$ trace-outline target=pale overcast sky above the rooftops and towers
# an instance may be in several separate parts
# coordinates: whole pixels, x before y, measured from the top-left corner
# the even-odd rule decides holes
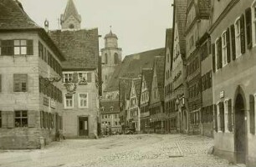
[[[20,0],[30,18],[50,29],[58,29],[58,18],[68,0]],[[74,0],[82,17],[81,28],[99,28],[100,48],[104,36],[112,32],[119,38],[125,55],[165,46],[166,28],[172,27],[172,0]]]

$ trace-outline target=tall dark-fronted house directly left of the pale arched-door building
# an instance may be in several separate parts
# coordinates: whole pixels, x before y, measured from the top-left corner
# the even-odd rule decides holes
[[[212,136],[211,63],[202,63],[208,51],[210,0],[190,1],[186,23],[186,82],[189,133]],[[208,61],[209,62],[209,61]],[[202,66],[203,64],[203,66]],[[202,73],[202,74],[201,74]],[[203,76],[203,77],[202,77]],[[202,98],[203,85],[203,98]],[[208,89],[208,90],[206,90]]]

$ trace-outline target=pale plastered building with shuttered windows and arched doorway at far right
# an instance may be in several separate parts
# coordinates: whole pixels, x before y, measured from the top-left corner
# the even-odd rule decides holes
[[[214,145],[234,163],[256,166],[256,1],[212,1]]]

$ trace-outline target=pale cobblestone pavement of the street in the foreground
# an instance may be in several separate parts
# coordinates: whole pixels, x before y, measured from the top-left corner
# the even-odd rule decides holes
[[[207,154],[213,139],[182,134],[136,134],[67,139],[45,149],[0,150],[1,167],[172,166],[235,167]]]

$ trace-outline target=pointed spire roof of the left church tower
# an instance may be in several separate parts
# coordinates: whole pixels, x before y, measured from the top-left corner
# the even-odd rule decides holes
[[[69,0],[65,9],[64,14],[61,15],[61,20],[64,21],[68,19],[70,16],[76,18],[79,23],[81,22],[81,16],[77,12],[73,0]]]

